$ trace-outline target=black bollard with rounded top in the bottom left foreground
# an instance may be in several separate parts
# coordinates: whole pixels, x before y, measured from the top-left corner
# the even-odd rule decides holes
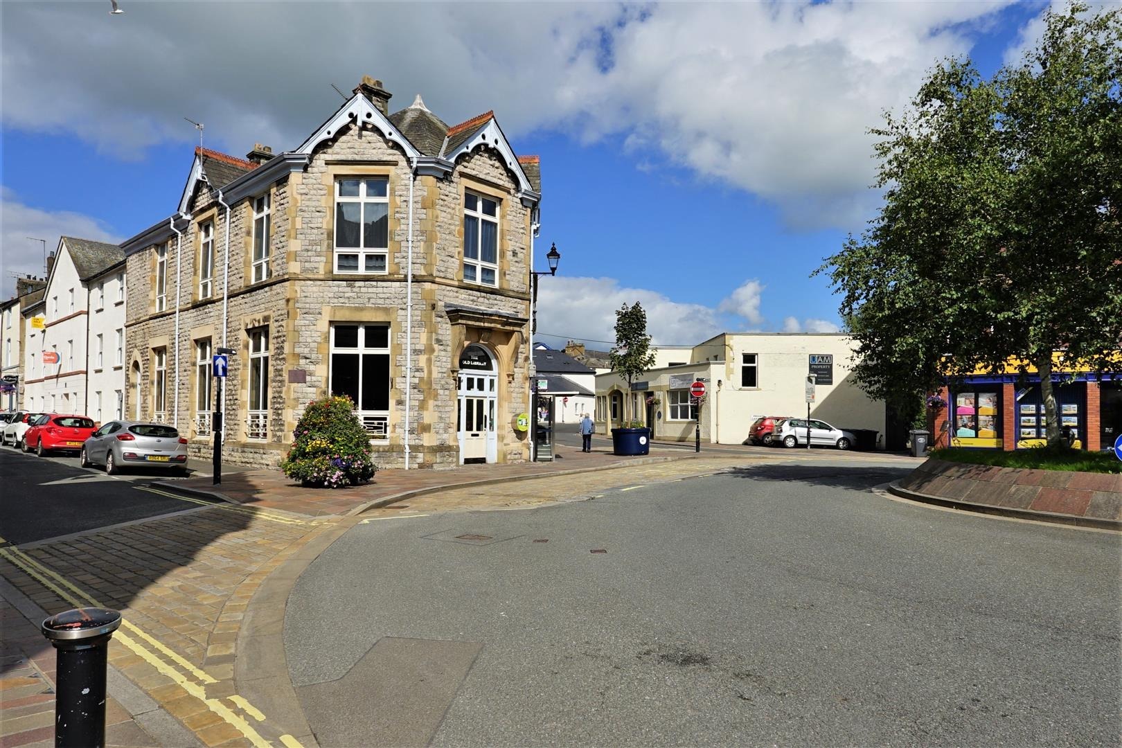
[[[57,650],[56,748],[105,745],[105,664],[120,625],[121,615],[105,608],[67,610],[43,621],[43,635]]]

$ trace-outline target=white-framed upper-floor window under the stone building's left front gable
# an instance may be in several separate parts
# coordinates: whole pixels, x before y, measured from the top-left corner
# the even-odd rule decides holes
[[[335,273],[388,271],[389,178],[335,182]]]

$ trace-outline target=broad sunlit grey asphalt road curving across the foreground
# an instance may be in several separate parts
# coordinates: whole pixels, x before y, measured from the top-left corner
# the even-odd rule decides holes
[[[320,744],[1116,746],[1118,534],[856,464],[358,525],[285,644]]]

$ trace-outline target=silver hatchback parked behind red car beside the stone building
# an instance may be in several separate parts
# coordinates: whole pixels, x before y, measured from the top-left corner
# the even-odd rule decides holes
[[[110,421],[82,445],[82,467],[105,465],[110,475],[125,468],[175,470],[187,463],[187,440],[174,426],[150,421]]]

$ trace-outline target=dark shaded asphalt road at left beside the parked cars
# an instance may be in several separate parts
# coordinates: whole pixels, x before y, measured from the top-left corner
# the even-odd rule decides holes
[[[138,489],[154,472],[107,475],[76,456],[38,458],[0,447],[0,545],[20,545],[197,507]]]

